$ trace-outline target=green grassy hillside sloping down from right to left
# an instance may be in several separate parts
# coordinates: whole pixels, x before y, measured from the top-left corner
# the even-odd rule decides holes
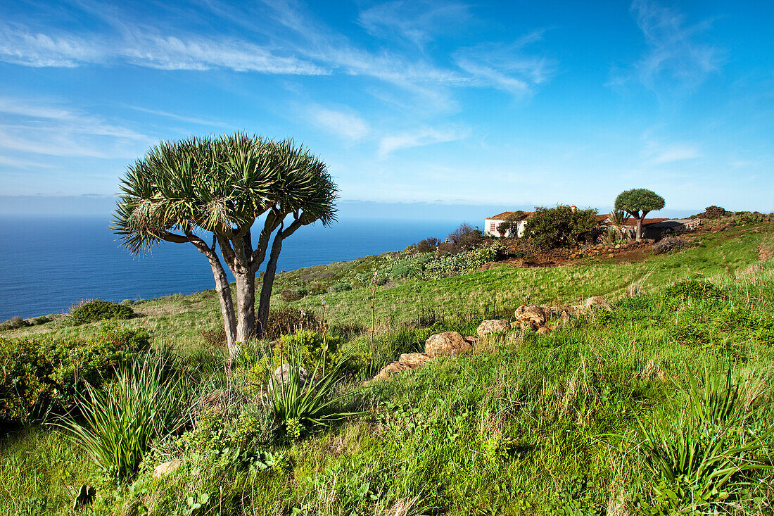
[[[360,360],[337,387],[341,410],[358,415],[306,428],[299,439],[288,439],[289,427],[272,432],[256,394],[263,358],[248,348],[254,355],[235,372],[245,403],[199,411],[194,427],[156,439],[139,473],[121,483],[60,429],[9,432],[0,442],[0,513],[70,514],[74,489],[92,483],[89,514],[774,514],[774,263],[759,260],[772,230],[707,233],[696,247],[635,263],[494,267],[291,303],[279,292],[313,283],[324,290],[385,258],[285,273],[272,305],[324,316],[328,342]],[[549,335],[492,336],[472,353],[363,382],[435,332],[471,335],[483,318],[526,302],[591,295],[614,301],[614,310]],[[197,392],[225,385],[221,352],[207,345],[220,324],[213,293],[133,308],[143,316],[114,324],[173,346]],[[99,325],[7,334],[79,338]],[[728,410],[707,415],[721,398]],[[699,454],[715,446],[731,462],[707,458],[671,476],[663,465],[675,442]],[[152,478],[171,459],[181,469]],[[722,465],[731,467],[727,481]]]

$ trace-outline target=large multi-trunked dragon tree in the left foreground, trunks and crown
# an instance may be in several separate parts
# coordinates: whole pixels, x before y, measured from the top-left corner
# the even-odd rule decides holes
[[[159,143],[128,167],[121,190],[111,229],[132,254],[173,242],[207,256],[231,359],[237,342],[266,328],[283,240],[303,225],[334,222],[338,197],[327,165],[305,147],[243,132]],[[236,308],[218,247],[236,280]],[[255,274],[264,262],[256,321]]]

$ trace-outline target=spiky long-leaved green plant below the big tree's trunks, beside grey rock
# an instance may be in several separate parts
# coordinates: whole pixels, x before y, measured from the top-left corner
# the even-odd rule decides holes
[[[298,439],[304,431],[314,427],[329,426],[334,421],[358,414],[342,410],[341,404],[346,395],[334,394],[338,373],[347,359],[348,356],[344,356],[330,370],[322,373],[325,367],[323,353],[306,382],[300,375],[300,351],[289,357],[287,375],[280,374],[280,378],[276,378],[269,370],[272,409],[283,421],[283,428],[290,439]],[[316,380],[318,373],[320,377]]]

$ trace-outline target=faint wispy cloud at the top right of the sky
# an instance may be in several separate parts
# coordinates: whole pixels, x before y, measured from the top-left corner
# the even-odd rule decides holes
[[[701,41],[701,36],[711,28],[711,22],[687,25],[680,12],[656,5],[651,0],[635,0],[632,15],[645,36],[648,50],[632,70],[619,74],[611,84],[637,79],[649,88],[656,88],[662,82],[672,87],[691,88],[720,70],[721,50]]]

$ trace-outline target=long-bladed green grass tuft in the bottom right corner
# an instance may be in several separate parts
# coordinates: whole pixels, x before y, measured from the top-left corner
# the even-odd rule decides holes
[[[652,485],[646,514],[724,511],[744,501],[753,470],[772,470],[767,440],[774,432],[762,417],[764,390],[708,373],[680,390],[669,413],[649,428],[639,423]],[[693,514],[693,513],[691,513]]]

